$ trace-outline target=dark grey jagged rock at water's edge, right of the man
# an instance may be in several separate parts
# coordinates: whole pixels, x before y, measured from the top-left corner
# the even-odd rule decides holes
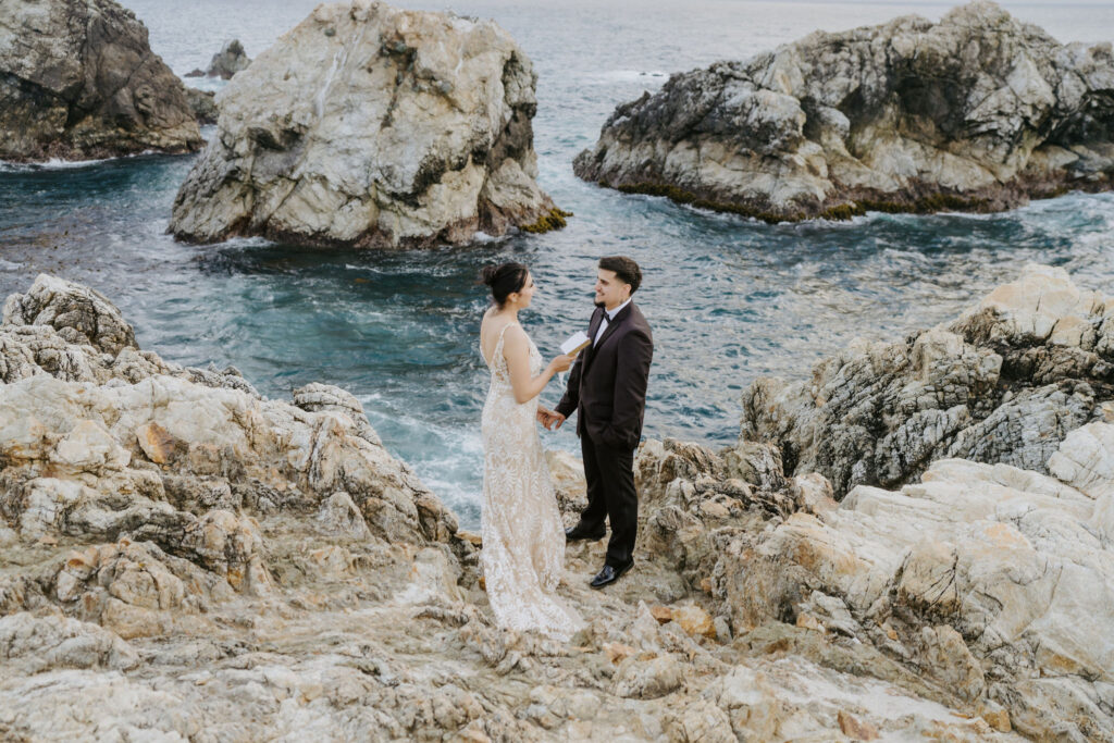
[[[857,343],[794,384],[743,393],[741,450],[773,444],[790,473],[841,498],[896,487],[958,457],[1047,472],[1072,430],[1110,416],[1114,300],[1027,265],[958,320],[898,343]],[[729,458],[733,454],[729,454]]]

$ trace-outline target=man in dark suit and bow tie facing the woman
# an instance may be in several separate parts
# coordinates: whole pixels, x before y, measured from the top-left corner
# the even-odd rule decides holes
[[[638,528],[638,495],[634,488],[634,450],[642,437],[646,409],[646,381],[654,356],[649,324],[631,302],[642,284],[638,264],[625,256],[599,260],[596,274],[596,311],[588,323],[592,344],[577,358],[565,397],[557,409],[539,411],[543,424],[560,428],[574,411],[579,413],[588,507],[565,538],[602,539],[604,519],[610,520],[604,568],[592,579],[593,588],[615,583],[634,565]]]

